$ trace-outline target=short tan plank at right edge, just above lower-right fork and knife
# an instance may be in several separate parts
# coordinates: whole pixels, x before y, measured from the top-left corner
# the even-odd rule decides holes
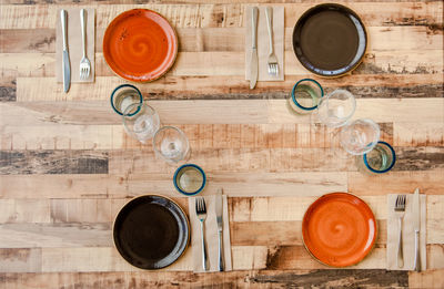
[[[385,195],[413,193],[415,187],[422,194],[440,195],[444,192],[442,171],[391,172],[381,175],[349,174],[349,192],[355,195]]]

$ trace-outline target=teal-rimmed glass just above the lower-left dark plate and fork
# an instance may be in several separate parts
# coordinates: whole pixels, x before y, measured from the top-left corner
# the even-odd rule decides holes
[[[200,166],[185,164],[175,171],[173,184],[179,193],[185,196],[194,196],[205,187],[206,176]]]

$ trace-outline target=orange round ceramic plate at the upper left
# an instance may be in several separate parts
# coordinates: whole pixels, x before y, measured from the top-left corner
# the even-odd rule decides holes
[[[104,59],[115,74],[129,81],[159,79],[173,65],[176,54],[174,29],[151,10],[125,11],[104,32]]]

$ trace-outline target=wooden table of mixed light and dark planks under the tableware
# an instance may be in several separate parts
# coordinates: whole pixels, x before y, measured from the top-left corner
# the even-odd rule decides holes
[[[286,110],[292,85],[313,78],[293,54],[292,28],[317,1],[284,4],[285,81],[250,91],[246,3],[81,0],[97,9],[97,80],[72,84],[69,94],[54,80],[56,11],[67,6],[53,2],[1,1],[0,288],[444,287],[442,1],[346,3],[366,24],[365,60],[353,75],[315,78],[326,91],[351,91],[355,117],[375,120],[395,146],[396,166],[381,176],[335,158],[326,131]],[[191,161],[209,175],[204,194],[223,187],[229,195],[234,271],[194,275],[188,249],[167,270],[147,272],[113,248],[112,220],[129,198],[161,194],[186,208],[171,180],[174,167],[128,137],[109,104],[123,81],[100,43],[107,24],[135,7],[161,12],[176,28],[175,65],[138,87],[163,123],[189,136]],[[430,269],[386,271],[386,194],[415,187],[427,195]],[[304,210],[331,192],[362,197],[379,221],[375,248],[349,269],[319,264],[301,240]]]

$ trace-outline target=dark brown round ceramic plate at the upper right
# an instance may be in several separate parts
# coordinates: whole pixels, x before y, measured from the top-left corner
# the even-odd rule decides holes
[[[362,61],[367,35],[355,12],[325,3],[309,9],[293,30],[293,49],[305,69],[321,76],[340,76]]]

